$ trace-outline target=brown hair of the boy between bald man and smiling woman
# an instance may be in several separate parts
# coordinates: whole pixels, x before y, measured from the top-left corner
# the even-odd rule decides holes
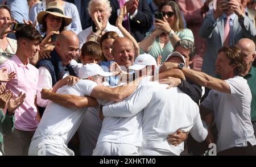
[[[82,45],[81,55],[84,56],[93,56],[93,57],[101,57],[101,45],[96,41],[86,41]]]

